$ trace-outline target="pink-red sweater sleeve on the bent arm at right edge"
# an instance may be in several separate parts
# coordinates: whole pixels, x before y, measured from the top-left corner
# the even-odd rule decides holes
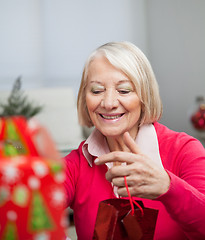
[[[183,141],[178,139],[171,147],[172,164],[170,171],[166,169],[170,188],[156,200],[164,204],[188,239],[205,239],[205,150],[196,139]]]

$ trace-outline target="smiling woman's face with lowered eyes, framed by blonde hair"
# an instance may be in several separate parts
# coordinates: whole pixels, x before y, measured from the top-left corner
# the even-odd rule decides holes
[[[138,131],[141,102],[133,83],[103,56],[89,66],[86,105],[94,126],[106,137],[118,137]]]

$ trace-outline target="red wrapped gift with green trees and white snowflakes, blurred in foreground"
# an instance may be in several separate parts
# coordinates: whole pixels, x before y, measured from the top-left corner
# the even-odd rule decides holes
[[[0,239],[65,239],[64,178],[44,128],[0,118]]]

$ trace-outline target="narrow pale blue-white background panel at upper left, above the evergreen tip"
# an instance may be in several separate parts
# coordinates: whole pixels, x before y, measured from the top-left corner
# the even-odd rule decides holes
[[[0,0],[0,89],[42,84],[40,0]]]

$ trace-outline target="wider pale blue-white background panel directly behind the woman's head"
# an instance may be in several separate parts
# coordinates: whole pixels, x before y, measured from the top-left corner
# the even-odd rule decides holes
[[[105,42],[135,41],[146,49],[144,3],[136,2],[133,12],[132,0],[45,0],[42,23],[46,85],[70,84],[77,91],[86,58]]]

